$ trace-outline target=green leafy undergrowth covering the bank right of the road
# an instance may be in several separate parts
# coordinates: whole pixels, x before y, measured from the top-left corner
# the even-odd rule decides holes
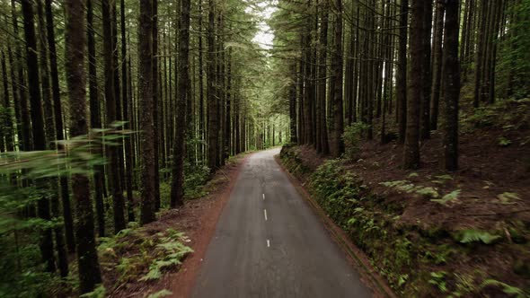
[[[402,206],[399,203],[389,205],[382,197],[375,196],[363,180],[344,168],[343,160],[328,160],[316,171],[311,171],[304,165],[295,146],[284,147],[280,159],[288,171],[305,180],[314,200],[367,254],[396,294],[402,297],[484,294],[524,297],[528,294],[528,289],[494,279],[494,273],[485,272],[481,267],[464,271],[455,267],[459,260],[473,258],[475,250],[506,243],[508,240],[501,230],[469,228],[446,232],[436,226],[405,226],[400,223]],[[384,185],[444,206],[457,204],[460,194],[459,189],[439,194],[435,188],[414,185],[407,180],[390,181]],[[498,250],[502,249],[499,247]],[[528,269],[523,263],[519,266],[523,267],[521,271]]]

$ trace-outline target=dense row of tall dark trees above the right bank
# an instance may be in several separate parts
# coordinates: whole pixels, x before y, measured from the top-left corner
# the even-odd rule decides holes
[[[340,156],[344,125],[362,123],[367,139],[397,138],[403,167],[414,169],[421,143],[440,129],[443,167],[454,171],[461,107],[528,95],[525,1],[282,0],[278,6],[273,50],[288,61],[276,71],[289,78],[291,141],[319,153]]]

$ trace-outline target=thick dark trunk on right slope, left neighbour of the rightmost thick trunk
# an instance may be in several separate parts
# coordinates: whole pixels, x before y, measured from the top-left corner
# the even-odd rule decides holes
[[[411,66],[409,67],[409,98],[407,101],[407,132],[403,147],[403,167],[420,167],[420,108],[423,95],[425,1],[412,0],[411,9]]]

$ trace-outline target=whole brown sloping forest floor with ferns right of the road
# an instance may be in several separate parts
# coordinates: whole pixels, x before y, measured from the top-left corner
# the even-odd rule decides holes
[[[438,132],[422,142],[418,171],[402,169],[395,141],[363,141],[357,154],[329,168],[307,145],[286,148],[282,161],[317,201],[320,196],[397,294],[529,294],[530,101],[470,117],[464,111],[459,171],[439,170],[441,142]],[[346,202],[333,206],[331,197]]]

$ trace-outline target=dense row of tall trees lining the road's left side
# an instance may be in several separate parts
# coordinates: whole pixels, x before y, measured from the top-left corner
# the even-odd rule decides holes
[[[288,128],[272,92],[262,102],[254,82],[268,66],[252,41],[259,16],[246,6],[0,4],[0,258],[14,285],[5,294],[46,291],[50,276],[68,276],[69,253],[80,292],[92,291],[102,281],[97,237],[181,206],[187,176],[282,142]]]

